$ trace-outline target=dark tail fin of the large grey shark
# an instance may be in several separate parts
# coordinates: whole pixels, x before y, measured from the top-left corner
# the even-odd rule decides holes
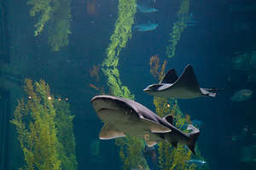
[[[192,130],[191,133],[187,134],[190,138],[187,146],[189,147],[189,150],[191,150],[192,153],[195,155],[195,144],[196,144],[196,140],[198,139],[198,136],[200,134],[200,131],[191,124],[188,125],[187,129]]]

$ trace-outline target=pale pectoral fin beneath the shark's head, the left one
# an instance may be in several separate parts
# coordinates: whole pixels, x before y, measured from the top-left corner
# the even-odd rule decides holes
[[[120,132],[112,127],[110,127],[107,123],[104,124],[100,133],[100,139],[116,139],[120,137],[125,137],[125,133]]]

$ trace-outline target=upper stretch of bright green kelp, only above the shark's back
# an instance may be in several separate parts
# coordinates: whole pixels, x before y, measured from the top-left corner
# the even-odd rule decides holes
[[[119,0],[118,19],[115,22],[115,29],[110,37],[110,44],[107,49],[107,58],[102,63],[102,72],[108,77],[108,86],[113,95],[134,99],[129,89],[122,85],[119,78],[119,54],[125,48],[127,41],[131,38],[131,26],[134,23],[134,14],[137,12],[136,0]]]

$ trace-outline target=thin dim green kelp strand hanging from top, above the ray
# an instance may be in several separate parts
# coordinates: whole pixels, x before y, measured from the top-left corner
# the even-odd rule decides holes
[[[183,0],[180,8],[177,12],[178,20],[172,26],[172,33],[170,34],[169,45],[166,47],[166,55],[168,58],[172,58],[175,55],[177,42],[179,41],[181,34],[187,27],[184,20],[186,20],[185,14],[189,13],[189,0]]]

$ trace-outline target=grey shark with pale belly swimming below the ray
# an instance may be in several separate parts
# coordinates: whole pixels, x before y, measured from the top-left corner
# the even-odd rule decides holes
[[[144,139],[149,147],[159,142],[186,144],[195,154],[195,143],[200,131],[188,125],[189,133],[174,126],[173,116],[157,116],[144,105],[131,99],[111,95],[97,95],[91,99],[96,115],[104,122],[100,139],[116,139],[126,135]]]

